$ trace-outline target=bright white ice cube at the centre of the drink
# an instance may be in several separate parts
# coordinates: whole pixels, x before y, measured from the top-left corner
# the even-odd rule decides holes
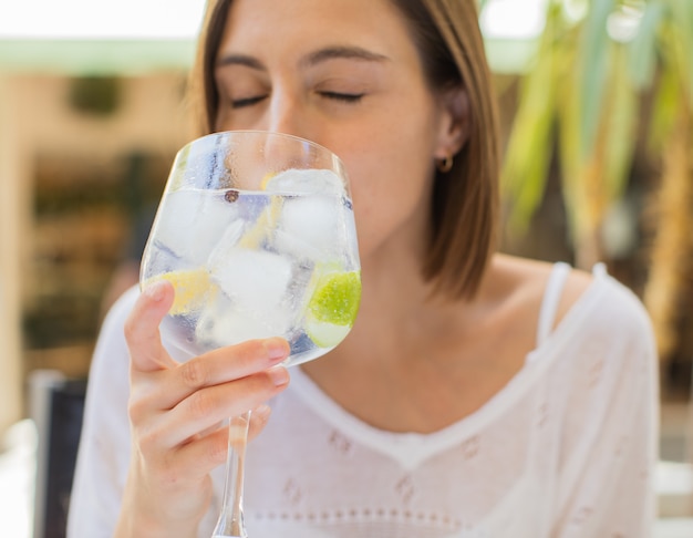
[[[266,313],[277,309],[291,281],[291,260],[266,250],[221,244],[210,260],[211,278],[242,311]]]

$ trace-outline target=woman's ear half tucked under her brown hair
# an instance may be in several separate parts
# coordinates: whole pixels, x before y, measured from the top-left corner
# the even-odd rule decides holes
[[[441,121],[434,158],[455,155],[469,137],[469,96],[461,84],[441,94]]]

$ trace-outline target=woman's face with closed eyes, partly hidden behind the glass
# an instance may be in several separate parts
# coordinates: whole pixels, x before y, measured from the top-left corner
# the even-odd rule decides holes
[[[289,133],[341,157],[363,261],[397,238],[423,247],[434,159],[458,146],[391,0],[235,0],[215,73],[218,131]]]

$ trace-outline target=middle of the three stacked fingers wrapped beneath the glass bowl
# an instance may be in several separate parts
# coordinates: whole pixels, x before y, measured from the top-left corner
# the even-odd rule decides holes
[[[161,448],[182,445],[229,416],[258,407],[283,391],[289,372],[278,365],[241,380],[201,389],[161,416],[154,434]]]

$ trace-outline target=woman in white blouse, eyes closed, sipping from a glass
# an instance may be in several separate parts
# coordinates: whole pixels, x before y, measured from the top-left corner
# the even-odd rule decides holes
[[[203,131],[344,161],[361,310],[289,384],[280,339],[177,363],[157,332],[170,286],[126,293],[94,358],[71,536],[209,536],[219,422],[247,408],[252,538],[648,536],[650,325],[602,270],[495,251],[475,1],[215,1],[194,81]]]

